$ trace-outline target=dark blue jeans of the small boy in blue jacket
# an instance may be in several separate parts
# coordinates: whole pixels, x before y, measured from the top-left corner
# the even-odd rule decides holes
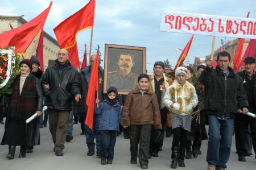
[[[101,159],[113,160],[117,131],[101,130]]]

